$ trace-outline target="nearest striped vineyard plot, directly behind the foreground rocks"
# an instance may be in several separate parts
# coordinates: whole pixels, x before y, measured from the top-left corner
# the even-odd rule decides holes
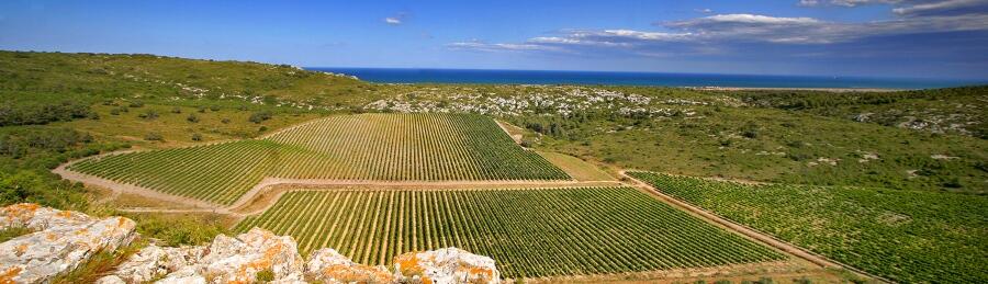
[[[602,274],[784,260],[631,188],[323,190],[284,194],[235,230],[291,235],[366,264],[457,247],[506,277]]]

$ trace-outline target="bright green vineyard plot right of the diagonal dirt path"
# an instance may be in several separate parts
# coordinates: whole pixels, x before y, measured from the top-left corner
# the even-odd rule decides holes
[[[988,280],[986,196],[629,174],[722,217],[896,282]]]

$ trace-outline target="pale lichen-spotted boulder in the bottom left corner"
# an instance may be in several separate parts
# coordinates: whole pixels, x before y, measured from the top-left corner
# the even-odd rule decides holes
[[[71,271],[94,253],[113,251],[134,240],[136,224],[124,217],[14,204],[0,208],[0,229],[33,232],[0,243],[0,283],[38,283]]]

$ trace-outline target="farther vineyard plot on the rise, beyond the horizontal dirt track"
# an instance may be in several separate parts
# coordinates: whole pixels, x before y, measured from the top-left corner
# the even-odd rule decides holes
[[[569,180],[497,124],[471,114],[339,115],[260,139],[114,155],[68,170],[229,205],[266,177]]]

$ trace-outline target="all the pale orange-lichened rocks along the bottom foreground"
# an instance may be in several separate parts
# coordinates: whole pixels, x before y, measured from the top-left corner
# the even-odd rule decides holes
[[[33,232],[0,243],[0,283],[43,283],[71,271],[97,251],[130,245],[133,220],[97,219],[81,213],[15,204],[0,208],[0,229]],[[499,283],[494,260],[457,248],[408,252],[394,268],[359,264],[334,249],[304,260],[290,236],[254,228],[217,236],[195,247],[149,245],[97,283]]]

